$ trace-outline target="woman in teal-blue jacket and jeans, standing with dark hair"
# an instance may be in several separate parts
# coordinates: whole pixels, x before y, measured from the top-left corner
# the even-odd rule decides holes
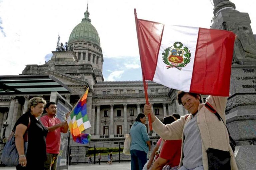
[[[142,170],[147,162],[148,151],[150,150],[150,140],[147,133],[146,116],[143,113],[138,114],[133,124],[131,135],[131,170]]]

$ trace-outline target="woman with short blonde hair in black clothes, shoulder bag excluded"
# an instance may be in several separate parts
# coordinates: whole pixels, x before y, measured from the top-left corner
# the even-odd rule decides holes
[[[15,123],[15,145],[19,153],[17,170],[43,170],[46,160],[46,134],[48,130],[41,124],[37,117],[44,111],[46,101],[41,97],[33,97],[28,102],[28,109]],[[23,136],[27,132],[27,142]],[[25,154],[24,144],[27,144]]]

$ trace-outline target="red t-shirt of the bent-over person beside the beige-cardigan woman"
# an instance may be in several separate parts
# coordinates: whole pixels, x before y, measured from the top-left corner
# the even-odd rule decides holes
[[[167,159],[170,167],[180,164],[181,140],[166,140],[160,152],[160,158]]]

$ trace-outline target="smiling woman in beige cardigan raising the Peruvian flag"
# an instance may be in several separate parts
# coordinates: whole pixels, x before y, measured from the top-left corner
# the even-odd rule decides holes
[[[172,124],[164,125],[159,121],[152,113],[151,104],[144,106],[144,114],[150,114],[154,131],[163,139],[182,139],[179,170],[211,170],[216,169],[216,166],[219,170],[237,170],[229,133],[225,127],[227,97],[210,95],[206,104],[201,104],[199,94],[179,91],[177,100],[190,114]],[[227,153],[223,157],[224,163],[222,161],[219,165],[219,162],[212,161],[212,150],[217,152],[217,157]]]

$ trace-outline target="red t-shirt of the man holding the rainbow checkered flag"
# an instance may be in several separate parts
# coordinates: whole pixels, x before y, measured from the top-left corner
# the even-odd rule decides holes
[[[48,115],[45,115],[40,118],[42,124],[48,128],[54,125],[57,125],[60,122],[58,118],[50,118]],[[59,154],[60,152],[60,137],[61,137],[62,128],[57,128],[54,131],[49,131],[46,136],[46,152]]]

